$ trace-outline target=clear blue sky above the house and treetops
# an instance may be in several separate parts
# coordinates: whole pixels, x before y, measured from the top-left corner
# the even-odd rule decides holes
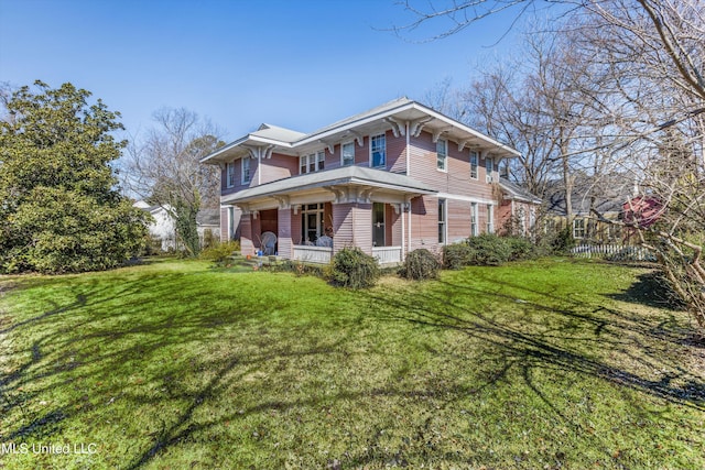
[[[0,81],[70,81],[131,135],[184,107],[234,140],[261,122],[311,132],[400,96],[423,101],[512,51],[511,34],[495,45],[511,14],[429,43],[379,31],[410,18],[394,0],[0,0]]]

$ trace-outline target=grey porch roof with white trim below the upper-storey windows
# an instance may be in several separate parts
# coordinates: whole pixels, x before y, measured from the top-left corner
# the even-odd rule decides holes
[[[312,189],[340,186],[361,186],[392,193],[420,196],[436,190],[416,179],[399,173],[390,173],[367,166],[343,166],[324,172],[308,173],[278,179],[260,186],[242,189],[220,198],[221,204],[251,203],[273,196],[286,196]]]

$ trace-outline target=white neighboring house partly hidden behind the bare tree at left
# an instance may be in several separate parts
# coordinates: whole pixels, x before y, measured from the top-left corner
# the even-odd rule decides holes
[[[150,206],[143,200],[134,203],[133,206],[152,215],[154,220],[150,222],[148,229],[151,237],[160,240],[162,251],[175,250],[177,248],[176,225],[174,218],[169,214],[169,207]],[[196,229],[198,230],[202,247],[207,238],[207,231],[210,231],[218,238],[217,236],[220,231],[220,211],[218,209],[200,209],[196,215]]]

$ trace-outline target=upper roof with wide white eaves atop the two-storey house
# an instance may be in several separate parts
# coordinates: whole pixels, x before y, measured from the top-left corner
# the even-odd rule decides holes
[[[464,147],[489,150],[500,157],[514,157],[520,153],[475,129],[448,118],[409,98],[398,98],[359,114],[337,121],[311,133],[301,133],[271,124],[262,124],[254,132],[218,149],[200,160],[217,164],[247,156],[253,149],[296,156],[322,144],[335,145],[344,141],[361,139],[372,132],[391,129],[394,134],[405,132],[419,135],[421,131],[434,136],[443,135],[462,143]]]

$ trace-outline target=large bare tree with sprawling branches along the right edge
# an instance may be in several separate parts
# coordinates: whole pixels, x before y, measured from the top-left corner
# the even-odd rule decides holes
[[[570,78],[547,75],[550,86],[542,88],[553,88],[556,95],[544,97],[540,108],[566,121],[557,128],[560,162],[566,165],[568,156],[592,154],[588,161],[596,173],[610,166],[633,174],[641,193],[633,200],[658,201],[658,222],[643,223],[641,208],[634,205],[631,228],[657,252],[671,287],[705,328],[705,2],[465,0],[437,8],[433,1],[408,0],[402,4],[414,20],[395,32],[440,24],[431,39],[455,34],[497,11],[514,9],[519,17],[528,9],[557,6],[555,17],[565,21],[555,23],[556,37],[570,37],[574,45],[562,62]],[[590,86],[590,79],[599,87]],[[573,99],[578,96],[583,99]],[[574,116],[581,125],[592,128],[592,136],[575,132]],[[581,133],[585,139],[576,139]]]

